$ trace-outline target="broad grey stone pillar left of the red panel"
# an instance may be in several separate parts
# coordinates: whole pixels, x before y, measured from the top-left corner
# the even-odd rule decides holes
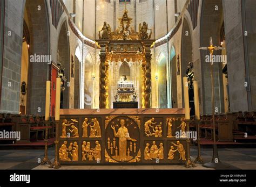
[[[46,1],[26,0],[23,16],[29,28],[29,56],[47,55],[47,59],[51,59],[49,15]],[[28,114],[45,113],[45,82],[49,78],[48,67],[47,62],[29,62],[26,102],[26,113]]]

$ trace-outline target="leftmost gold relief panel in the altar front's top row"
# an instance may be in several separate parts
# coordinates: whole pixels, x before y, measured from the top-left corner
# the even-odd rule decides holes
[[[63,119],[62,133],[60,138],[78,138],[78,120],[77,119]]]

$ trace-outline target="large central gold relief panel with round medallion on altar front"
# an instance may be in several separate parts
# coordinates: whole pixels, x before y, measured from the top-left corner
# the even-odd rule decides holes
[[[105,130],[106,162],[140,161],[140,120],[134,116],[109,117]]]

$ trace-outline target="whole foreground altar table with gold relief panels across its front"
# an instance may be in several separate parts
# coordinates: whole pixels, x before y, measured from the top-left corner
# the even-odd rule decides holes
[[[184,164],[184,109],[62,109],[60,164]],[[184,126],[185,125],[185,126]]]

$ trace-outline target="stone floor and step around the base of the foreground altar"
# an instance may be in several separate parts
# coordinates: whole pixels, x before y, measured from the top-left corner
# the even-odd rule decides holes
[[[218,151],[219,159],[230,164],[229,169],[256,169],[256,149],[251,148],[221,148]],[[205,162],[211,161],[212,149],[204,148],[201,155]],[[54,148],[48,151],[49,159],[54,158]],[[197,147],[191,148],[191,159],[197,156]],[[0,169],[49,169],[48,166],[39,166],[44,157],[44,150],[0,150]],[[181,165],[170,166],[62,166],[60,169],[186,169]],[[201,164],[196,168],[208,169]]]

